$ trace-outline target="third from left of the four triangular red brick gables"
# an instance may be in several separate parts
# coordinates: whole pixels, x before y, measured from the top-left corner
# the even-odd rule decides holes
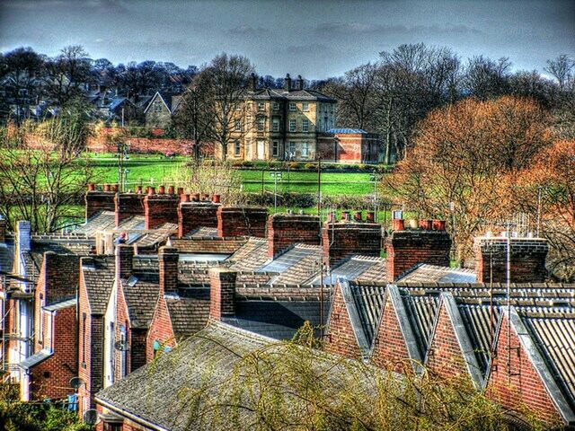
[[[465,376],[468,383],[472,384],[445,304],[442,304],[439,309],[436,330],[429,343],[426,366],[432,374],[437,374],[446,380],[461,381],[461,377]]]

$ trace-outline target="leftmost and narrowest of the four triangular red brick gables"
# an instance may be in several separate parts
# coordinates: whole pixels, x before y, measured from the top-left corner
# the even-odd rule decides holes
[[[325,339],[326,351],[353,359],[361,358],[358,340],[351,328],[348,310],[339,284],[335,286]]]

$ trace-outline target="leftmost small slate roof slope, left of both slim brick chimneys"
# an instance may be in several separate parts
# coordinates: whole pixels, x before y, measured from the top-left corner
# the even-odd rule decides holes
[[[93,314],[104,314],[114,286],[115,263],[111,256],[82,258],[82,275]]]

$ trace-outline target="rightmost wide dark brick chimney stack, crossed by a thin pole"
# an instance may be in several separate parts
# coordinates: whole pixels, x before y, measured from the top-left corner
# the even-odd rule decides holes
[[[510,238],[510,282],[544,283],[549,243],[544,238]],[[482,236],[473,242],[478,283],[507,282],[507,238]]]

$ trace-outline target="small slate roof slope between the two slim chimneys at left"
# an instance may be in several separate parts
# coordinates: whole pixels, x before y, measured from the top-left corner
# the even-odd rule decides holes
[[[137,274],[128,280],[122,279],[121,286],[126,298],[131,327],[149,328],[160,293],[157,280],[147,281],[142,274]]]

